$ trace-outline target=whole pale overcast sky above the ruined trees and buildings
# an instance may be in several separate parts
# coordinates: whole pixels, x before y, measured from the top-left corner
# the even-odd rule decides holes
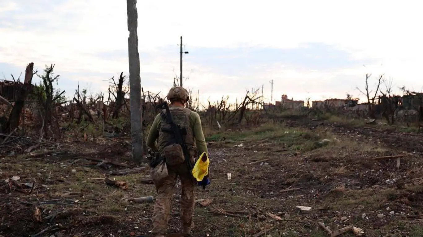
[[[420,91],[423,14],[418,1],[194,0],[138,1],[141,84],[167,92],[179,75],[200,101],[264,84],[270,99],[360,96],[366,73]],[[125,1],[0,0],[0,78],[29,62],[55,64],[59,87],[106,91],[108,78],[128,74]],[[420,24],[418,23],[420,22]],[[165,93],[163,93],[165,94]]]

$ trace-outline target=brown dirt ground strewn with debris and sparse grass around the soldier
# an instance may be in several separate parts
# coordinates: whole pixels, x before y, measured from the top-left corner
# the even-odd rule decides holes
[[[198,187],[195,196],[212,202],[196,202],[193,236],[328,236],[322,222],[332,231],[355,226],[362,236],[421,237],[422,138],[398,127],[327,121],[210,134],[211,185]],[[155,195],[148,169],[110,175],[136,167],[128,140],[4,152],[9,155],[0,159],[1,236],[149,236],[153,203],[130,201]],[[120,182],[111,186],[104,178]],[[178,184],[169,233],[179,232],[179,194]]]

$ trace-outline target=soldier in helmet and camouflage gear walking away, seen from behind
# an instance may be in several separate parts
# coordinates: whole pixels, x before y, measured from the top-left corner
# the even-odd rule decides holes
[[[184,143],[190,154],[191,162],[194,164],[195,157],[198,157],[198,154],[202,154],[203,152],[208,154],[200,116],[198,113],[188,108],[184,108],[189,97],[187,90],[183,87],[175,86],[171,88],[167,97],[171,104],[170,113],[172,114],[174,122],[179,124],[180,127],[186,128],[187,134],[184,136]],[[158,151],[160,157],[164,158],[168,169],[168,176],[165,178],[154,180],[152,177],[157,190],[157,198],[154,204],[152,234],[156,237],[164,237],[166,234],[170,214],[170,202],[176,180],[179,176],[182,185],[182,233],[189,235],[194,228],[192,214],[194,211],[195,179],[192,177],[187,165],[184,164],[184,158],[178,155],[175,156],[175,154],[181,154],[182,151],[180,146],[170,141],[171,136],[162,131],[162,127],[168,125],[164,117],[165,111],[163,110],[154,118],[147,138],[147,145],[152,151]],[[156,140],[158,140],[157,146],[155,145]]]

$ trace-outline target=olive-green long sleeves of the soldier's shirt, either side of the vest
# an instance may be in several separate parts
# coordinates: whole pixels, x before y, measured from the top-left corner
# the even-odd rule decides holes
[[[159,127],[162,119],[160,114],[157,114],[154,118],[153,124],[151,124],[150,132],[148,132],[147,145],[151,147],[153,151],[157,151],[156,140],[159,138]],[[209,152],[207,151],[206,139],[204,138],[203,128],[201,127],[201,118],[197,112],[191,111],[190,113],[190,125],[194,131],[195,145],[202,154],[206,152],[207,156]]]

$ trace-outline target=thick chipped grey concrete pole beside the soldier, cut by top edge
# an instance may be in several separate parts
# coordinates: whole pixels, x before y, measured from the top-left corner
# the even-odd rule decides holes
[[[137,0],[126,0],[128,14],[129,102],[131,104],[132,159],[143,161],[143,118],[141,113],[140,54],[138,53]]]

